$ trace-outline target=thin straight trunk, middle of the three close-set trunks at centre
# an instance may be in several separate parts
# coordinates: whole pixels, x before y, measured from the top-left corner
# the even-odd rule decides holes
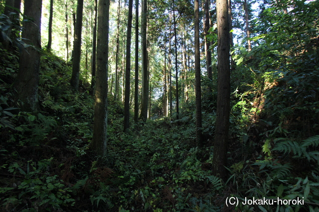
[[[135,1],[135,84],[134,121],[139,119],[139,0]]]

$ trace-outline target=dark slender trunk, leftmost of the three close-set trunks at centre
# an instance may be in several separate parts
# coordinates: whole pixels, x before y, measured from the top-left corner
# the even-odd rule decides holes
[[[124,132],[130,127],[130,78],[131,78],[131,37],[133,0],[129,0],[128,31],[126,39],[126,68],[124,96]]]

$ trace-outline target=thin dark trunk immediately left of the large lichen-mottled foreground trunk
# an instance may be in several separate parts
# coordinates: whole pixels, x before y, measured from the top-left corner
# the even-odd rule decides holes
[[[96,27],[97,27],[97,6],[98,0],[94,0],[94,26],[93,26],[93,39],[92,39],[92,64],[91,64],[91,93],[95,88],[95,71],[96,71]]]

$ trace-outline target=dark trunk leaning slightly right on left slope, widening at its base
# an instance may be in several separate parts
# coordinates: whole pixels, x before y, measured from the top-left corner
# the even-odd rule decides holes
[[[79,90],[81,34],[82,34],[83,0],[78,0],[76,8],[76,23],[74,31],[73,66],[70,84],[75,91]]]

